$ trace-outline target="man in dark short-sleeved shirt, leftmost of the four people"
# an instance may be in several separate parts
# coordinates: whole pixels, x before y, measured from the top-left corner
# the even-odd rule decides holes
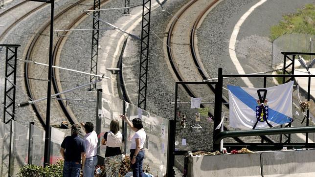
[[[65,137],[61,143],[60,154],[64,157],[63,177],[80,177],[81,158],[82,164],[85,163],[85,143],[78,136],[80,125],[73,124],[71,126],[71,135]],[[83,166],[82,166],[83,169]]]

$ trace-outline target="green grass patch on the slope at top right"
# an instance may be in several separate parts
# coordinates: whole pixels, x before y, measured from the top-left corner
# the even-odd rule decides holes
[[[284,15],[278,25],[271,26],[270,39],[274,41],[284,34],[315,34],[315,4],[306,4],[294,14]]]

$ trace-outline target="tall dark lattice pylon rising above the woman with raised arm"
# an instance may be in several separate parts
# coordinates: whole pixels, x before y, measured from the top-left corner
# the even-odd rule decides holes
[[[143,0],[138,107],[146,109],[151,0]]]

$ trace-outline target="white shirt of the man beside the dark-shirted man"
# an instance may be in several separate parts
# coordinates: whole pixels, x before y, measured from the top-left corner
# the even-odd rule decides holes
[[[85,147],[86,147],[86,155],[87,158],[90,158],[97,154],[97,134],[95,131],[90,132],[84,136]]]

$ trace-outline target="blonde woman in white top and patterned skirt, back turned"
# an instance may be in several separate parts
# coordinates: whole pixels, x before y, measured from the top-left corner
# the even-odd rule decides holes
[[[113,119],[110,124],[110,131],[106,132],[102,139],[102,144],[106,145],[104,165],[107,177],[118,177],[123,160],[120,149],[123,142],[124,136],[119,132],[119,121]]]

